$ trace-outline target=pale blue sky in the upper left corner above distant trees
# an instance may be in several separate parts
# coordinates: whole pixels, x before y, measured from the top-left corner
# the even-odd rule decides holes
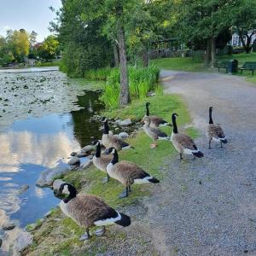
[[[38,42],[44,41],[50,32],[49,21],[55,14],[49,9],[61,7],[61,0],[0,0],[0,35],[6,36],[9,29],[24,28],[38,33]]]

